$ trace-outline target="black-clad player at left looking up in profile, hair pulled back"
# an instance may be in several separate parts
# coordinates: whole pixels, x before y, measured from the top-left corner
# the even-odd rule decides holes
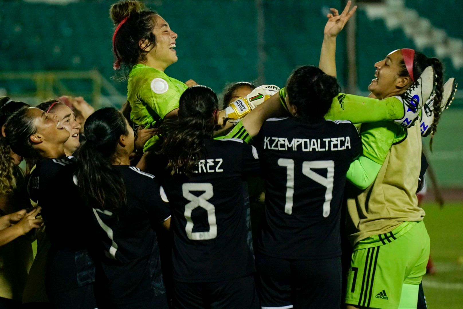
[[[28,192],[42,207],[51,241],[45,273],[50,303],[55,308],[94,309],[94,264],[88,253],[91,237],[81,225],[87,214],[72,182],[74,162],[64,152],[69,135],[55,114],[35,107],[21,108],[5,124],[12,150],[25,158],[40,159],[32,168]]]

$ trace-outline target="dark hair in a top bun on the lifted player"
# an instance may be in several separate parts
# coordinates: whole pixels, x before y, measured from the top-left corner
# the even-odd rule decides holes
[[[124,68],[125,78],[130,70],[140,60],[144,60],[149,50],[141,49],[138,42],[148,40],[148,49],[156,46],[156,37],[153,34],[156,11],[147,9],[141,1],[123,0],[113,4],[109,15],[117,26],[124,21],[114,35],[113,51],[116,57],[114,69],[118,72]]]

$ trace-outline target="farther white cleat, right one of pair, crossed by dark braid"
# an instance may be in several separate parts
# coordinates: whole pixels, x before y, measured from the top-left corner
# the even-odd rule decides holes
[[[457,81],[455,78],[450,78],[444,84],[444,93],[442,94],[442,102],[440,104],[440,113],[444,109],[449,108],[453,99],[455,99],[455,93],[457,92]],[[421,119],[419,124],[419,129],[421,130],[421,136],[426,137],[433,132],[430,130],[431,124],[434,121],[434,98],[436,93],[434,93],[431,98],[429,98],[421,109]]]

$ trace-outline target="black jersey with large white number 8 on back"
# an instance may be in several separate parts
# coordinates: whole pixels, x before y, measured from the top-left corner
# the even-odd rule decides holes
[[[163,189],[172,211],[174,278],[213,282],[254,272],[247,245],[245,175],[259,172],[256,148],[241,140],[204,140],[191,177],[166,172]]]

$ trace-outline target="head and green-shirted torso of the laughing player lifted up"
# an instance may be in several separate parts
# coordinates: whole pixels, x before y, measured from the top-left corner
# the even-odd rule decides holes
[[[124,0],[113,4],[111,19],[117,25],[113,35],[115,69],[121,66],[128,74],[127,101],[131,120],[144,128],[156,127],[164,118],[176,117],[181,93],[187,84],[169,77],[164,70],[177,62],[177,34],[156,12],[140,1]],[[189,80],[188,84],[195,84]],[[153,136],[144,150],[158,140]]]

